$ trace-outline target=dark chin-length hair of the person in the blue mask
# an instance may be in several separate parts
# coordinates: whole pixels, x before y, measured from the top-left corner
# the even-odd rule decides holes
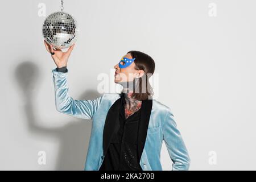
[[[135,58],[135,69],[142,69],[144,71],[144,75],[139,78],[138,85],[135,85],[133,93],[134,98],[141,101],[152,99],[154,92],[148,79],[155,71],[155,61],[152,57],[141,51],[129,51],[127,53],[130,53],[131,57]],[[145,86],[146,88],[143,88],[142,90],[142,86]],[[145,89],[146,93],[144,92]]]

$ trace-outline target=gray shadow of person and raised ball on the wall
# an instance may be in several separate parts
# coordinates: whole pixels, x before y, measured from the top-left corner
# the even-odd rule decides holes
[[[24,113],[27,117],[28,131],[42,140],[45,140],[46,137],[59,140],[60,148],[57,155],[56,170],[84,170],[88,149],[86,144],[89,144],[92,126],[91,120],[86,119],[84,121],[84,119],[75,118],[67,125],[54,129],[40,126],[38,123],[43,123],[46,120],[36,115],[38,103],[35,102],[36,89],[34,88],[40,85],[40,76],[38,66],[32,61],[23,61],[15,69],[15,78],[19,84],[20,92],[24,96]],[[49,85],[49,88],[53,88],[53,83]],[[81,100],[85,98],[91,100],[97,97],[100,97],[97,90],[87,90],[82,94]]]

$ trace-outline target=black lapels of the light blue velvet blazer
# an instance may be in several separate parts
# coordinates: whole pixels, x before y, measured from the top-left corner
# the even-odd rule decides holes
[[[114,134],[115,125],[119,122],[119,110],[121,104],[123,103],[123,96],[124,94],[120,94],[120,98],[114,102],[114,104],[110,107],[108,114],[106,116],[106,121],[104,125],[103,131],[103,151],[104,156],[108,151],[108,147],[110,141]],[[152,99],[143,100],[141,106],[141,121],[139,122],[139,129],[138,129],[138,162],[141,159],[141,155],[143,152],[144,144],[146,142],[147,137],[147,128],[148,123],[150,121],[150,114],[152,110]]]

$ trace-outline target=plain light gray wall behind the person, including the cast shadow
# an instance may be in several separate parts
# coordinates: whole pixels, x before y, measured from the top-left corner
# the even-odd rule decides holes
[[[84,169],[91,121],[55,109],[43,44],[46,15],[60,1],[3,1],[1,15],[0,169]],[[217,16],[208,15],[216,3]],[[191,170],[256,169],[255,6],[247,1],[64,1],[80,35],[69,59],[69,93],[93,99],[97,76],[113,79],[127,51],[152,56],[157,100],[170,107],[191,156]],[[46,151],[46,165],[38,152]],[[216,153],[214,165],[209,152]],[[163,144],[161,162],[171,169]]]

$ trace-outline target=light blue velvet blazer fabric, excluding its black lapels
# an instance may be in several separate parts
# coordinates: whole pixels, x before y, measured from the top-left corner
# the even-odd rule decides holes
[[[84,170],[98,171],[108,149],[121,94],[103,94],[94,100],[74,100],[69,96],[68,72],[52,69],[57,111],[73,117],[92,119],[92,131]],[[163,141],[172,160],[172,170],[188,170],[190,158],[171,109],[156,100],[142,102],[139,124],[139,164],[143,171],[161,171],[160,152]]]

